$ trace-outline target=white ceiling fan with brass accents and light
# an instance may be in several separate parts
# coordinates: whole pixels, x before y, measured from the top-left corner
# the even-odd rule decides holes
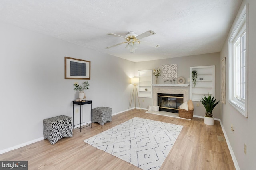
[[[159,44],[150,43],[150,42],[146,42],[146,41],[140,41],[140,39],[142,39],[144,37],[148,37],[150,35],[154,35],[154,34],[156,34],[156,33],[154,31],[151,31],[151,30],[146,31],[146,32],[144,32],[140,35],[137,35],[136,33],[131,31],[128,34],[126,34],[125,37],[123,37],[121,35],[114,34],[114,33],[108,33],[108,35],[113,35],[115,37],[124,38],[126,41],[122,42],[122,43],[118,43],[116,45],[112,45],[110,47],[106,47],[106,48],[109,49],[109,48],[112,48],[112,47],[115,47],[115,46],[118,46],[118,45],[121,45],[121,44],[125,44],[125,43],[127,43],[125,48],[128,48],[130,50],[130,53],[135,52],[135,49],[137,49],[138,44],[144,44],[144,45],[147,45],[147,46],[150,46],[150,47],[158,48],[158,47],[160,47]]]

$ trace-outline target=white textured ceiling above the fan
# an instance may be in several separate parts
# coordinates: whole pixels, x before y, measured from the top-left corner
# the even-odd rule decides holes
[[[130,61],[219,52],[242,0],[0,0],[0,21]],[[114,33],[156,34],[135,53]]]

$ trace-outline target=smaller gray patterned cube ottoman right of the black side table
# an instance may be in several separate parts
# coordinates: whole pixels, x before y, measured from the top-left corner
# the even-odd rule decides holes
[[[97,107],[92,109],[92,123],[98,122],[104,125],[107,121],[112,121],[112,109],[109,107]]]

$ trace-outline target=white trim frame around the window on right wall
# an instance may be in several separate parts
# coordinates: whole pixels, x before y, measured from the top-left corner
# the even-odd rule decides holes
[[[245,30],[246,30],[246,70],[245,70],[245,102],[241,103],[239,100],[233,99],[234,94],[234,80],[233,80],[233,41],[238,35],[241,27],[244,25],[245,22]],[[234,29],[232,30],[231,36],[228,40],[228,102],[238,110],[242,115],[248,117],[247,113],[247,105],[248,105],[248,4],[244,6]]]

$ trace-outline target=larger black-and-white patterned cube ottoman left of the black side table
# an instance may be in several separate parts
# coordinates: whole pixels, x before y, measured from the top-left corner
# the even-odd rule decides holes
[[[43,120],[44,139],[48,139],[51,144],[56,143],[63,137],[73,136],[72,117],[56,116]]]

